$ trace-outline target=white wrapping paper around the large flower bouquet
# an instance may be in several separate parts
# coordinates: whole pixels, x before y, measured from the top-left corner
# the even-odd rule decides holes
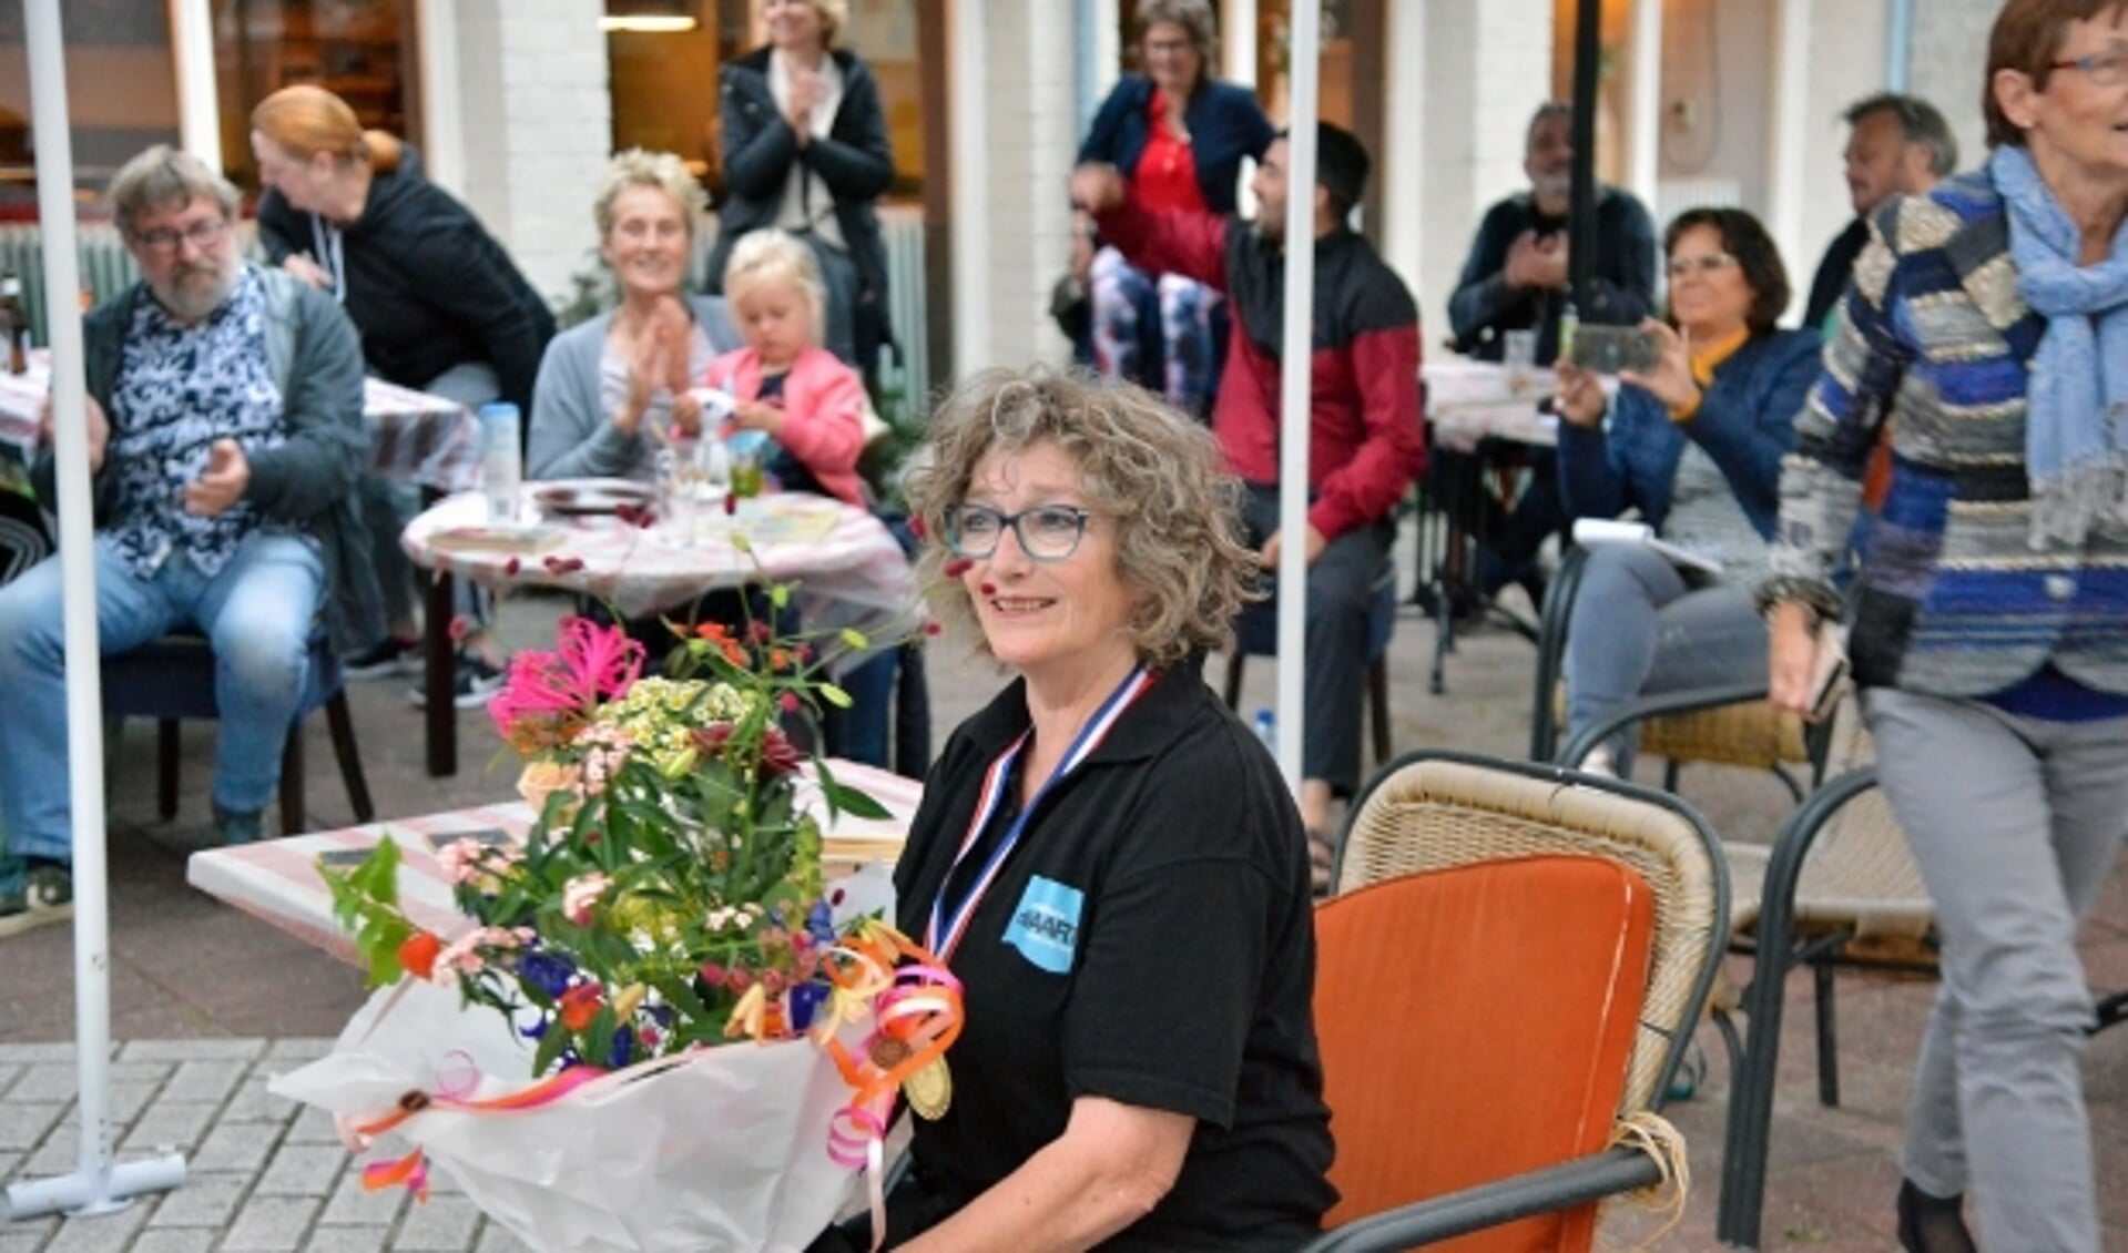
[[[868,868],[845,881],[838,919],[879,908],[883,879]],[[885,898],[892,917],[892,887]],[[845,1047],[866,1030],[845,1028]],[[530,1040],[500,1015],[409,979],[370,996],[328,1057],[270,1091],[362,1125],[409,1091],[496,1098],[530,1087]],[[615,1070],[538,1108],[432,1104],[392,1136],[541,1253],[800,1253],[858,1183],[828,1157],[849,1096],[809,1038],[734,1042]],[[379,1145],[366,1159],[392,1155]]]

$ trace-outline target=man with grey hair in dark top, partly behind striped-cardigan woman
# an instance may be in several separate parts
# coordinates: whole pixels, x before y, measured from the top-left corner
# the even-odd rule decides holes
[[[1879,91],[1847,106],[1847,198],[1856,206],[1847,223],[1817,262],[1811,279],[1811,300],[1802,308],[1802,328],[1822,330],[1856,257],[1868,243],[1868,215],[1892,196],[1922,196],[1958,170],[1958,138],[1943,113],[1919,96]]]

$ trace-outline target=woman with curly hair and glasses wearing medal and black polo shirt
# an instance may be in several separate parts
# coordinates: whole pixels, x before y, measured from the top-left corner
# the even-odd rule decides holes
[[[1147,391],[1047,370],[962,385],[932,451],[919,568],[1019,679],[953,734],[894,872],[970,1013],[887,1242],[1292,1249],[1336,1198],[1307,840],[1190,664],[1256,579],[1238,485]]]

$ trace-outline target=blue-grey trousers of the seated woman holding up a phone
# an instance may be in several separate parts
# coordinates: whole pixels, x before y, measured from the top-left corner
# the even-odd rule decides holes
[[[1766,623],[1751,589],[1694,587],[1641,545],[1590,545],[1566,625],[1566,734],[1641,696],[1766,679]],[[1634,732],[1605,742],[1613,768],[1632,772]]]

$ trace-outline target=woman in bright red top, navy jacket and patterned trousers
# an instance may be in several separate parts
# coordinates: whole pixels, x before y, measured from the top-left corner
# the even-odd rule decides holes
[[[1241,160],[1262,157],[1273,128],[1247,87],[1219,83],[1209,0],[1138,0],[1138,60],[1124,74],[1079,147],[1079,164],[1104,162],[1130,179],[1130,196],[1156,213],[1234,213]],[[1219,294],[1181,274],[1145,274],[1115,249],[1094,257],[1094,368],[1211,413],[1219,383]],[[1158,319],[1158,325],[1143,325]]]

